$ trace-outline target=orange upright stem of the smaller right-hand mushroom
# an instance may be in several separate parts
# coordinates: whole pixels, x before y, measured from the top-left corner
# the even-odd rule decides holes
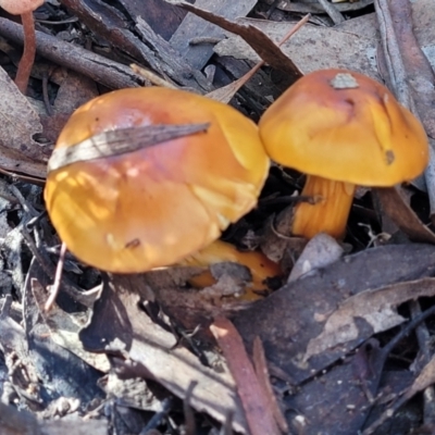
[[[301,195],[313,198],[313,203],[301,202],[296,206],[291,233],[307,238],[319,233],[341,238],[355,189],[355,184],[308,175]]]

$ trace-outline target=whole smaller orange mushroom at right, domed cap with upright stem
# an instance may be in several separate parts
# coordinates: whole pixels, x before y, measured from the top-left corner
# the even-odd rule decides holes
[[[423,126],[380,83],[346,70],[316,71],[287,89],[260,120],[269,156],[307,174],[291,233],[340,238],[356,185],[387,187],[428,161]]]

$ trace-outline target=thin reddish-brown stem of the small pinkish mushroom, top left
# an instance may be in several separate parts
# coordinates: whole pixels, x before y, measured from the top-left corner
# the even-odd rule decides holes
[[[36,53],[36,34],[33,12],[23,13],[21,15],[21,21],[24,32],[24,51],[18,63],[18,70],[16,71],[15,85],[22,94],[26,94]]]

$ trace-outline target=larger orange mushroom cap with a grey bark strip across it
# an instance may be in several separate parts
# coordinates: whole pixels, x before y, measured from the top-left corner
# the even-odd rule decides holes
[[[140,88],[98,97],[72,115],[57,149],[119,128],[194,123],[210,125],[206,133],[48,174],[47,210],[78,259],[117,273],[169,265],[256,206],[269,170],[257,126],[194,94]]]

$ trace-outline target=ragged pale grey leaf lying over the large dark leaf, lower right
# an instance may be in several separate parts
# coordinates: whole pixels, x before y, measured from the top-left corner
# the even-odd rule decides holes
[[[400,303],[434,295],[435,278],[428,277],[369,289],[346,299],[328,316],[322,333],[308,343],[303,361],[358,338],[356,319],[363,319],[373,328],[373,333],[387,331],[406,321],[396,310]]]

